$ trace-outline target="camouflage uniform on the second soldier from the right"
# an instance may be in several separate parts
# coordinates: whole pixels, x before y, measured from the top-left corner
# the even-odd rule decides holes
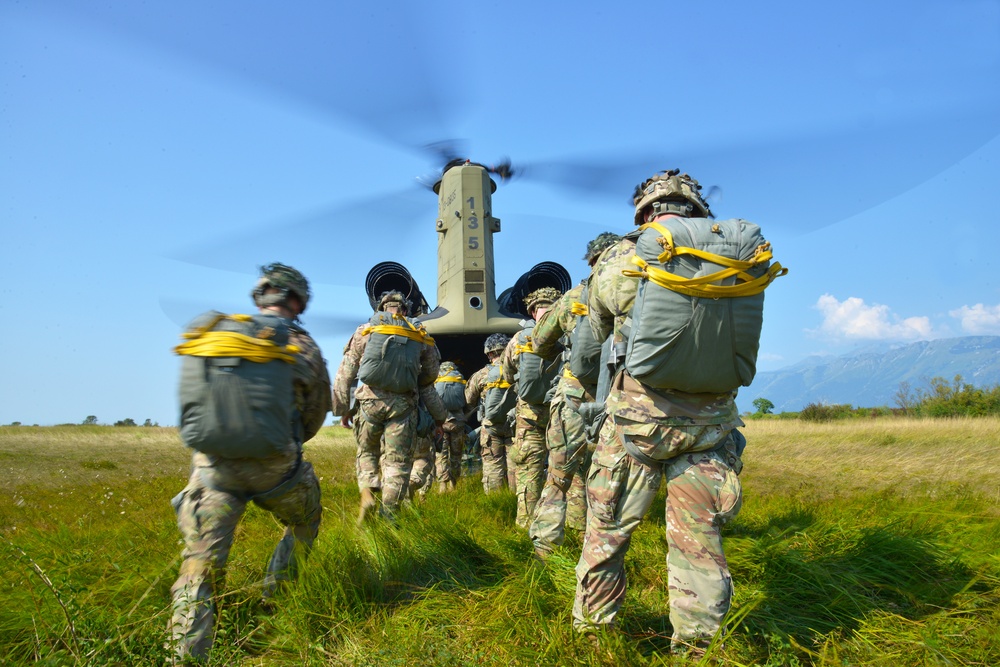
[[[559,340],[576,326],[573,304],[580,301],[583,287],[584,283],[580,283],[566,292],[538,320],[531,333],[535,354],[551,358],[559,352]],[[549,553],[563,542],[568,519],[568,492],[573,482],[586,474],[589,464],[584,421],[577,409],[581,403],[594,400],[595,389],[574,377],[568,363],[563,364],[563,374],[549,406],[551,416],[545,432],[549,449],[548,477],[528,529],[536,552]],[[578,488],[582,489],[582,484]],[[574,509],[577,526],[582,526],[586,520],[586,501],[582,512],[579,501]]]

